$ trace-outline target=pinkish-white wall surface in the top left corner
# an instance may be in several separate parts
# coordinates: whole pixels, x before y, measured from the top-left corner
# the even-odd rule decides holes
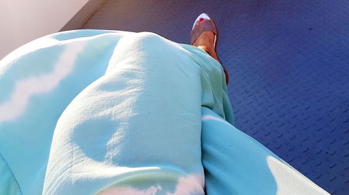
[[[59,31],[89,0],[0,0],[0,59]]]

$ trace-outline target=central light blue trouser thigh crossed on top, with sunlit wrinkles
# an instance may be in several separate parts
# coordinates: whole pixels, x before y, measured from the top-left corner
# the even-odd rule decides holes
[[[156,34],[121,38],[64,110],[43,194],[203,194],[200,68]]]

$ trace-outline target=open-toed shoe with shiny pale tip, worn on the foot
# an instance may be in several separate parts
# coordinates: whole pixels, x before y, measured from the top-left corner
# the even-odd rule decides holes
[[[199,24],[195,25],[197,22],[199,22]],[[196,39],[198,39],[198,37],[205,31],[211,31],[214,34],[214,52],[216,52],[216,55],[217,55],[218,28],[217,28],[216,22],[214,22],[214,20],[212,20],[207,13],[202,13],[196,18],[193,24],[193,28],[191,29],[191,45],[193,45]],[[218,62],[223,67],[223,71],[225,73],[225,82],[228,85],[228,82],[229,82],[228,71],[223,66],[221,59],[219,59],[219,57],[218,57]]]

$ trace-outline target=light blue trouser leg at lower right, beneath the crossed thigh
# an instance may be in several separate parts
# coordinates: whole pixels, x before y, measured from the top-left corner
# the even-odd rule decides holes
[[[328,194],[206,107],[202,165],[207,194]]]

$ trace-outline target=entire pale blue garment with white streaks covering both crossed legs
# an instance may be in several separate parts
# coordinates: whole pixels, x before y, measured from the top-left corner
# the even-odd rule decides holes
[[[52,34],[1,60],[0,91],[0,194],[327,194],[232,126],[191,45]]]

